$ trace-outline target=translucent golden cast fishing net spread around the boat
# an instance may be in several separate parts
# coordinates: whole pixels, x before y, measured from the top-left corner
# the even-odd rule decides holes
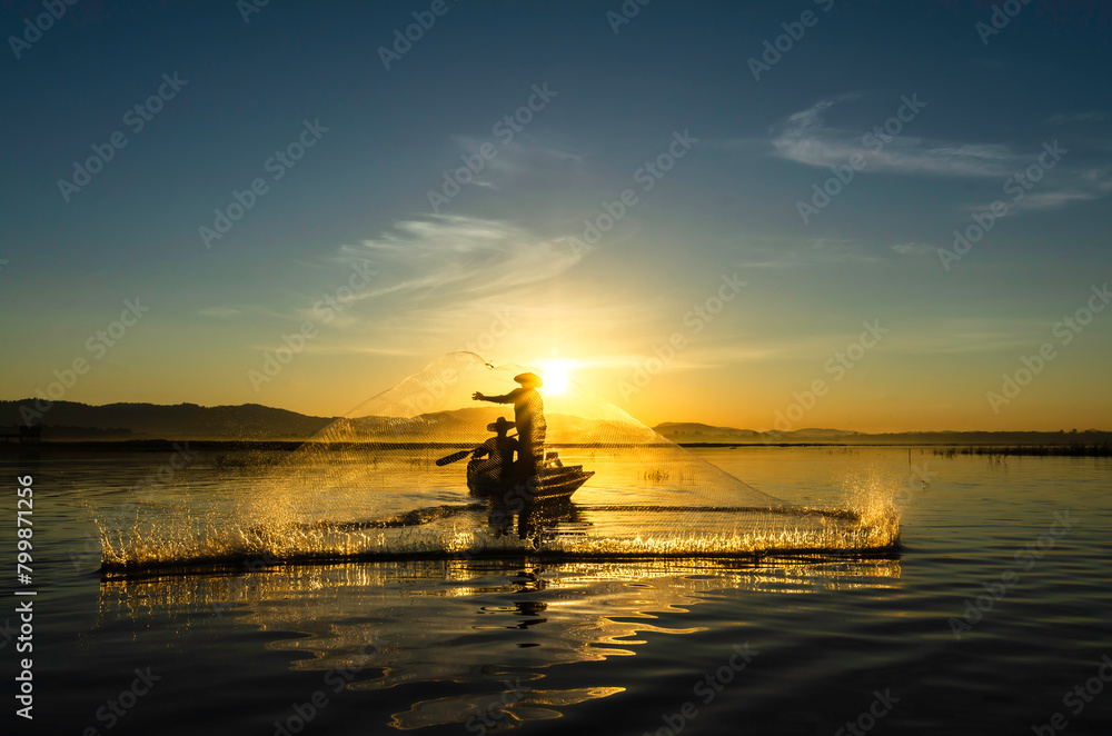
[[[196,490],[205,484],[195,483],[182,491],[188,514],[180,506],[189,501],[175,506],[168,494],[141,507],[133,525],[102,526],[105,569],[237,558],[868,553],[897,544],[894,516],[774,498],[574,382],[539,388],[547,431],[533,475],[448,461],[490,439],[499,417],[514,421],[512,405],[473,395],[505,395],[524,370],[448,354],[281,460],[245,460],[254,473],[211,479],[203,503]]]

